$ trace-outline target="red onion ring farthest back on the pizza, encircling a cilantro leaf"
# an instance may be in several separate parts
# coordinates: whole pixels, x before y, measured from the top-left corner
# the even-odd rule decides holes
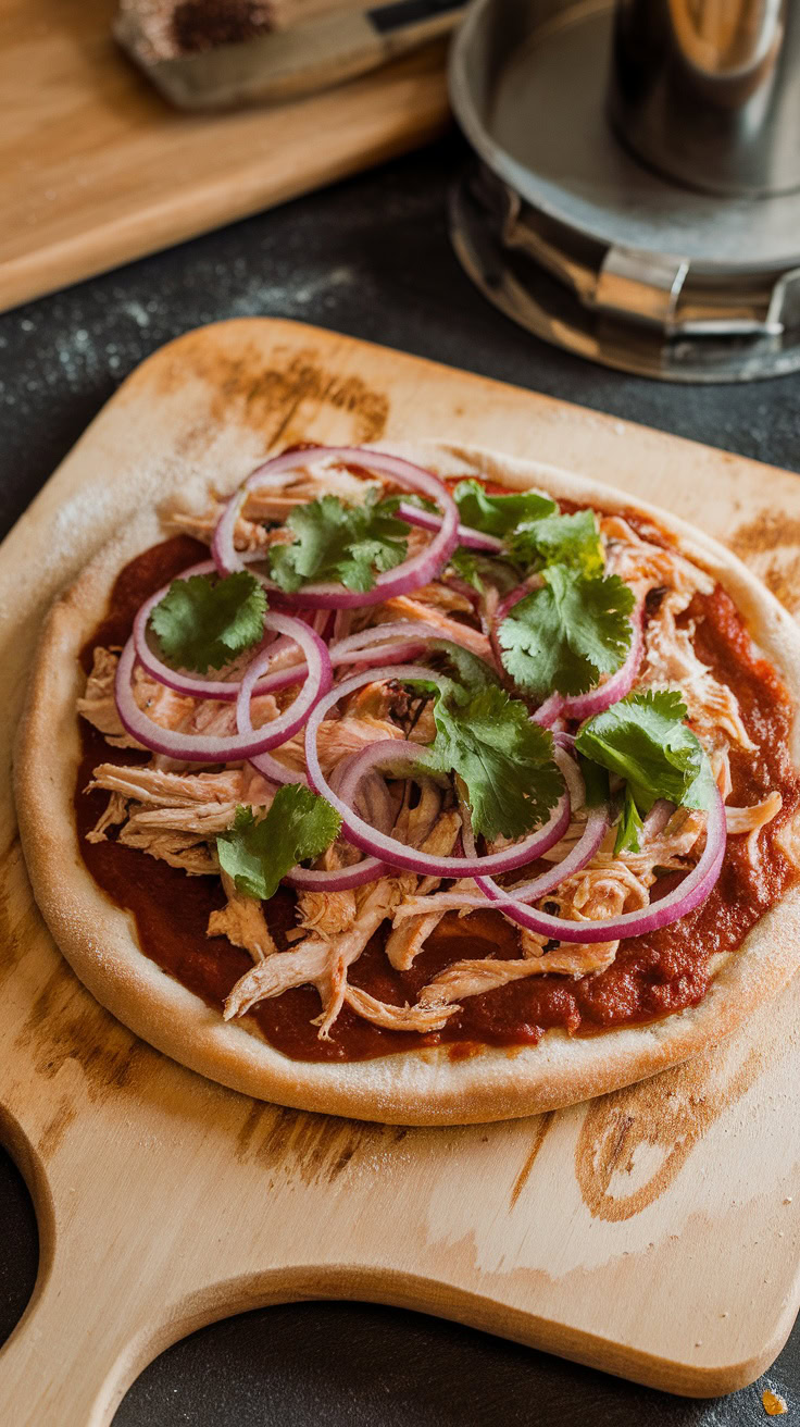
[[[284,451],[282,455],[258,467],[231,497],[217,522],[211,554],[220,574],[230,575],[235,569],[245,568],[242,557],[234,548],[234,531],[248,492],[254,488],[278,484],[287,471],[307,468],[315,461],[349,462],[388,475],[398,485],[436,501],[442,508],[442,524],[424,551],[405,559],[395,569],[384,571],[375,578],[372,589],[354,592],[345,589],[344,585],[328,582],[305,585],[292,594],[295,605],[312,609],[361,609],[364,605],[382,604],[392,595],[405,595],[436,578],[458,545],[458,508],[451,492],[432,471],[412,465],[411,461],[404,461],[401,457],[388,455],[384,451],[368,451],[362,447],[311,447],[304,451]],[[264,582],[271,588],[268,581]]]

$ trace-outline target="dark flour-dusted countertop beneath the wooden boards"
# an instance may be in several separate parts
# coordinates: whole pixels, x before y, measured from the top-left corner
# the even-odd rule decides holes
[[[0,315],[0,534],[143,357],[222,317],[294,317],[800,469],[799,375],[669,387],[545,347],[495,313],[446,238],[446,186],[462,154],[449,138]],[[36,1223],[1,1152],[0,1223],[3,1340],[33,1287]],[[170,1349],[114,1421],[750,1427],[767,1420],[764,1386],[787,1398],[791,1423],[800,1414],[800,1327],[763,1381],[700,1403],[395,1309],[291,1304],[228,1319]]]

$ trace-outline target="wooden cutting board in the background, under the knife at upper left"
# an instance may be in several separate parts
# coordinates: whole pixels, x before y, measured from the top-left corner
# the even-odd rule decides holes
[[[445,44],[275,108],[173,110],[113,0],[0,0],[0,311],[426,143]]]

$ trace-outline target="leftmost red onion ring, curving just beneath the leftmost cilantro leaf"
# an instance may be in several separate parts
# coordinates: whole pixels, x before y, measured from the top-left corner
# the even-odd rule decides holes
[[[264,616],[264,628],[275,629],[278,634],[289,635],[305,654],[308,678],[301,692],[291,706],[280,718],[272,719],[261,729],[254,729],[250,719],[250,701],[258,682],[261,671],[267,666],[271,651],[265,649],[257,655],[244,675],[237,696],[237,728],[238,733],[184,733],[180,729],[161,728],[147,716],[134,699],[131,675],[137,658],[134,636],[131,635],[117,665],[114,684],[114,699],[123,728],[145,748],[154,753],[165,753],[187,763],[231,763],[242,759],[254,759],[255,755],[267,752],[285,743],[297,733],[314,702],[325,694],[332,684],[331,661],[319,635],[314,634],[302,622],[291,615],[280,615],[270,611]],[[241,709],[241,714],[240,714]],[[260,769],[264,772],[264,769]],[[271,776],[270,772],[265,776]]]

